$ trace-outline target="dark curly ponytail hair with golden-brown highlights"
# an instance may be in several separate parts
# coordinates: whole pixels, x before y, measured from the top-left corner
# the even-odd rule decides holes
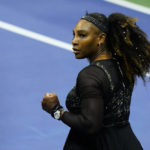
[[[108,28],[107,45],[120,63],[129,83],[141,77],[145,83],[150,71],[150,42],[146,34],[136,25],[136,18],[113,13],[108,18],[100,13],[86,13]]]

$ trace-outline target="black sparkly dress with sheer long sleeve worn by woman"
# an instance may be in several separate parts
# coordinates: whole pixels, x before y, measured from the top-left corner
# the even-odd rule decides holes
[[[63,150],[142,150],[129,123],[132,90],[114,59],[81,70],[61,118],[71,127]]]

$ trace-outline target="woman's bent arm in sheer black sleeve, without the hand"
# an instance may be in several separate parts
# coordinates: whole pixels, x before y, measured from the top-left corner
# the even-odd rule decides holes
[[[64,112],[61,120],[76,130],[94,134],[100,130],[104,115],[101,81],[104,72],[96,66],[83,69],[77,78],[77,90],[81,99],[81,113]]]

